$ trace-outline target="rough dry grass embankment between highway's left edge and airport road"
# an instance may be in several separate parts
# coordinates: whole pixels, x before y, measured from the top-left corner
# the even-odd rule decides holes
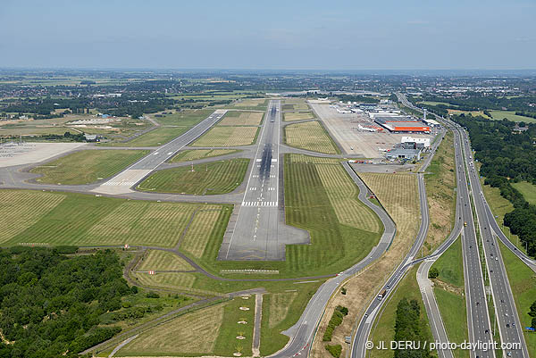
[[[448,237],[456,216],[456,172],[452,132],[443,138],[424,175],[430,226],[423,245],[423,254],[430,254]]]

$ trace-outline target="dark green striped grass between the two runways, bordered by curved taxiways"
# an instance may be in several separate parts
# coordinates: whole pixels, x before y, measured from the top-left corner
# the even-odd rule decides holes
[[[138,185],[139,190],[189,195],[226,194],[244,180],[249,159],[206,162],[155,171]]]

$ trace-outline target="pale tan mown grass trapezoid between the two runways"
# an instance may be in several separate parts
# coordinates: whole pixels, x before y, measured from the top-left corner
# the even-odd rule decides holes
[[[191,146],[249,146],[255,143],[258,127],[214,127]]]

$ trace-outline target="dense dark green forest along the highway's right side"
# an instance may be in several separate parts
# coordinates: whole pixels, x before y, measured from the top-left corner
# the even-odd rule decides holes
[[[515,132],[513,121],[490,121],[464,114],[453,120],[469,132],[476,151],[474,159],[482,164],[484,183],[498,187],[501,196],[514,204],[514,210],[505,215],[505,225],[521,239],[527,254],[536,257],[536,206],[511,185],[521,180],[536,184],[536,125],[530,123],[526,131]]]

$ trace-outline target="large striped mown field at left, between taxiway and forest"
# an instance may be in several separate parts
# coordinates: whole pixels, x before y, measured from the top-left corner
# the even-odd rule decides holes
[[[24,190],[1,190],[0,202],[10,203],[0,208],[4,218],[13,217],[10,212],[17,209],[13,221],[0,221],[4,246],[174,247],[194,212],[206,207],[224,210],[214,204],[155,203]]]

